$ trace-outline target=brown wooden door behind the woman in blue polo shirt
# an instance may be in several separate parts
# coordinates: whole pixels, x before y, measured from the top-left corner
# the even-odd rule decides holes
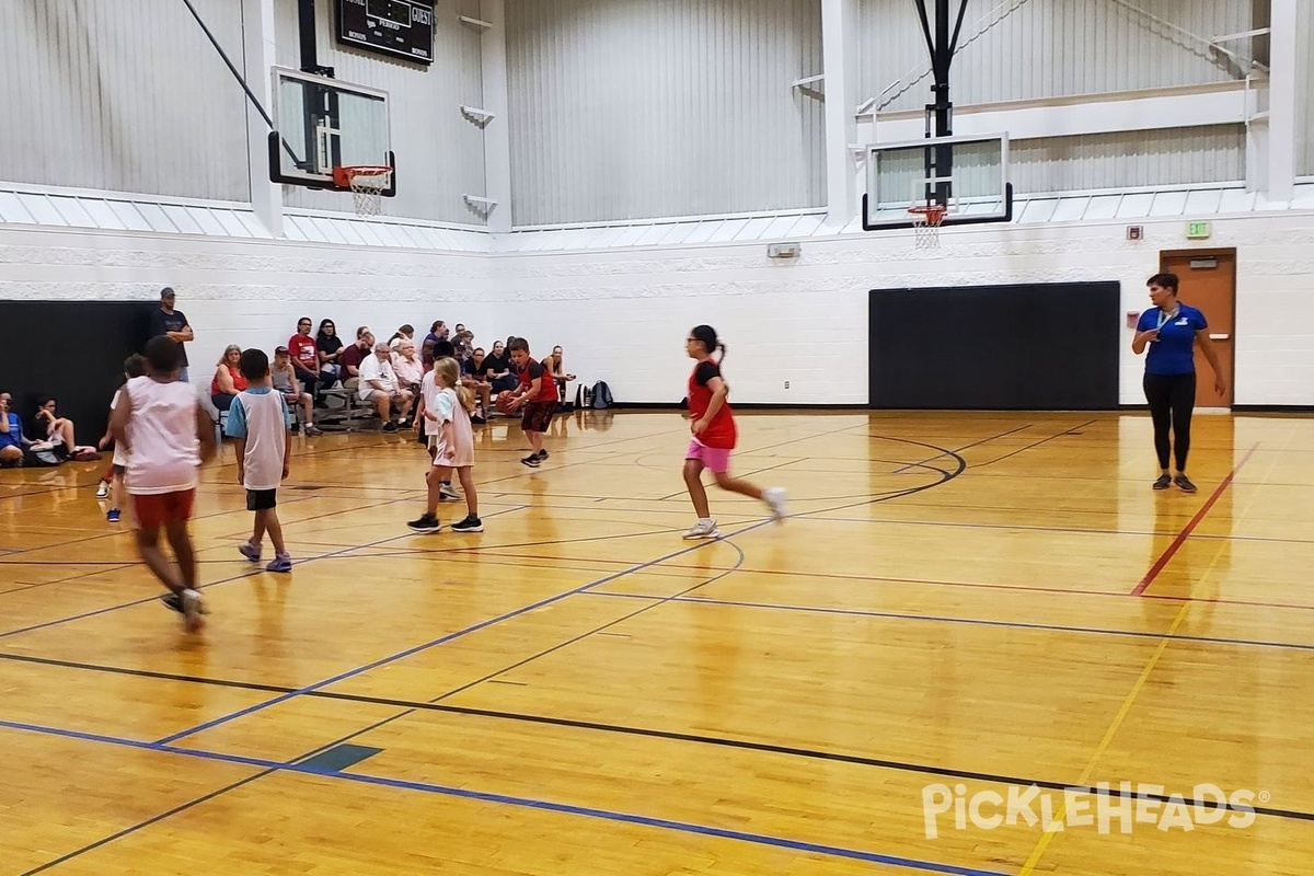
[[[1164,252],[1159,257],[1160,269],[1177,274],[1177,298],[1205,314],[1209,338],[1218,351],[1218,364],[1227,381],[1227,393],[1214,391],[1214,372],[1200,347],[1196,347],[1196,407],[1231,407],[1234,353],[1236,335],[1236,252],[1190,250]]]

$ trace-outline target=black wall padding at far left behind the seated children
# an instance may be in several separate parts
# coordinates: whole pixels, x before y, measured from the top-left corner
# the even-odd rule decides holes
[[[124,360],[148,340],[158,305],[104,301],[0,301],[0,391],[29,427],[39,395],[54,395],[58,414],[78,428],[79,444],[96,444],[109,422],[109,402],[124,382]]]

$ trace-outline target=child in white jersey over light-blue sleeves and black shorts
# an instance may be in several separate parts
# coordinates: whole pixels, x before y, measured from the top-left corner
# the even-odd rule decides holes
[[[283,542],[279,523],[279,485],[288,477],[292,432],[288,431],[288,402],[275,393],[269,381],[269,357],[261,349],[242,352],[238,370],[247,389],[238,393],[229,408],[226,432],[237,441],[238,483],[247,491],[247,511],[255,511],[251,540],[238,550],[251,562],[260,562],[260,542],[269,533],[273,561],[265,571],[292,571],[292,557]]]

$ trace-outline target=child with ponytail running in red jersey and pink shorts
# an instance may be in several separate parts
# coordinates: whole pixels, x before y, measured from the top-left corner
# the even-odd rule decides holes
[[[716,486],[732,493],[740,493],[766,502],[771,516],[781,520],[787,514],[784,490],[782,487],[758,489],[756,485],[732,478],[731,452],[738,436],[735,429],[735,414],[725,397],[729,386],[721,380],[720,362],[725,359],[725,344],[716,340],[716,330],[711,326],[696,326],[686,340],[690,359],[698,360],[694,373],[689,376],[689,419],[694,433],[685,453],[685,486],[689,498],[698,512],[698,523],[685,533],[686,538],[717,538],[721,532],[707,508],[707,490],[703,489],[703,469],[711,469]],[[721,357],[712,359],[715,351]]]

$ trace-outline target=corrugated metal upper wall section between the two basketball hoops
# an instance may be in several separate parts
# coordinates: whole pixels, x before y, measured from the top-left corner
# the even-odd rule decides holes
[[[509,0],[518,226],[825,204],[817,0]]]

